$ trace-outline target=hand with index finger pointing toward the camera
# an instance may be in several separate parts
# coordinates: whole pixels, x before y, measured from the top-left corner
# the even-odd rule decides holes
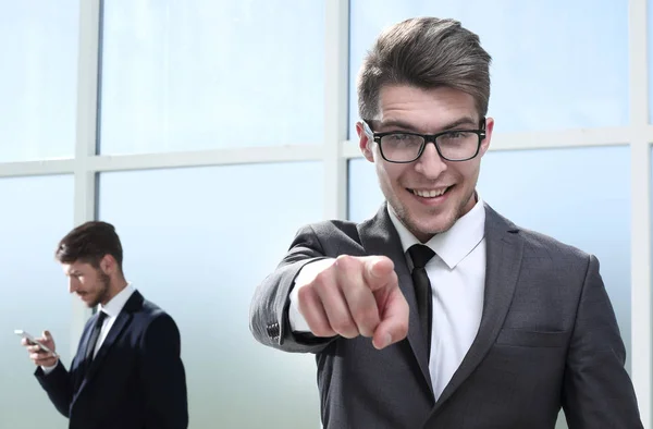
[[[307,265],[295,281],[298,309],[316,336],[371,336],[377,348],[408,333],[408,303],[392,260],[348,256]]]

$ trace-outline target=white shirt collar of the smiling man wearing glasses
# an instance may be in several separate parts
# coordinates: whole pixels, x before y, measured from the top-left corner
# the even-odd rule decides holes
[[[390,219],[399,234],[402,247],[406,253],[410,246],[419,244],[420,241],[402,223],[390,205],[387,205],[387,208]],[[424,245],[429,246],[449,269],[454,269],[481,243],[484,236],[485,208],[483,200],[478,196],[471,210],[458,219],[448,231],[435,234]]]

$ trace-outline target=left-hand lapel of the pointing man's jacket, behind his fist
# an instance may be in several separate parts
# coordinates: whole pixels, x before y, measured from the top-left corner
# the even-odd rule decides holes
[[[417,358],[422,376],[429,384],[430,391],[433,392],[431,375],[429,372],[427,346],[422,340],[423,335],[421,334],[419,316],[417,311],[415,311],[417,308],[417,301],[415,298],[412,278],[410,277],[408,266],[406,265],[406,256],[404,254],[404,248],[402,247],[399,234],[394,228],[390,214],[387,214],[385,204],[383,204],[374,218],[358,225],[358,234],[360,236],[360,243],[368,255],[385,255],[392,259],[394,263],[399,289],[408,302],[408,308],[410,308],[407,340]]]

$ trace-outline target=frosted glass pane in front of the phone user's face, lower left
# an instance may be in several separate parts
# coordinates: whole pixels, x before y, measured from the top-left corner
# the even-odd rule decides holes
[[[13,330],[49,330],[70,367],[73,298],[54,249],[73,228],[73,188],[67,175],[0,179],[0,428],[67,428]]]

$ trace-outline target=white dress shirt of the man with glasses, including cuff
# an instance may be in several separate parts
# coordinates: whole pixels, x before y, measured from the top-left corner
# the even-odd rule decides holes
[[[390,219],[399,234],[408,269],[408,248],[420,243],[389,206]],[[433,296],[431,358],[429,371],[435,400],[448,384],[473,342],[483,312],[485,289],[485,208],[478,198],[473,208],[446,232],[424,245],[435,256],[427,263]],[[297,305],[297,289],[291,293],[288,309],[294,332],[309,332]]]

